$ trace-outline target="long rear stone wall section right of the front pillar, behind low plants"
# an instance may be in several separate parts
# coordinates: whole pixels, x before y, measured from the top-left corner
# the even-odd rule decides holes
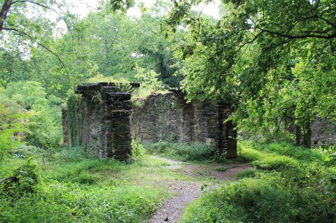
[[[181,92],[148,96],[144,105],[133,108],[131,131],[141,141],[174,139],[213,145],[226,157],[237,157],[237,132],[224,121],[230,106],[211,101],[187,103]]]

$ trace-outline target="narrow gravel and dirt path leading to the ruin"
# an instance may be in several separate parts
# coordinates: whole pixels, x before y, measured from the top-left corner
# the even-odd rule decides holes
[[[170,166],[167,168],[172,170],[181,171],[185,175],[189,175],[193,178],[197,177],[209,177],[216,180],[234,180],[236,173],[249,168],[246,164],[189,164],[181,161],[174,161],[172,159],[167,159],[163,157],[160,158],[167,161]],[[220,171],[221,170],[221,171]],[[203,183],[200,180],[195,181],[180,181],[176,180],[171,185],[169,185],[169,190],[172,192],[177,192],[178,195],[174,198],[169,199],[156,211],[155,215],[151,217],[149,223],[174,223],[179,220],[183,214],[183,210],[186,208],[188,203],[197,199],[201,196]]]

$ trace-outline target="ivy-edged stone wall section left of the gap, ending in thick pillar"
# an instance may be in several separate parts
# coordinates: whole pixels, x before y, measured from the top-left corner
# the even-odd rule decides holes
[[[137,86],[134,84],[134,87]],[[120,92],[119,87],[107,82],[78,85],[76,94],[80,96],[75,109],[76,136],[72,138],[76,138],[77,143],[71,143],[69,120],[63,115],[64,143],[69,141],[70,145],[78,144],[90,148],[99,157],[128,159],[131,155],[132,139],[131,94]]]

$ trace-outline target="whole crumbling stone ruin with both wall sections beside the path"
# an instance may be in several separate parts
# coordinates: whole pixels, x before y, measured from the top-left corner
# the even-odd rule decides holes
[[[237,156],[237,133],[232,122],[224,123],[232,112],[228,105],[209,100],[187,103],[181,92],[170,92],[149,96],[143,106],[132,108],[131,94],[113,82],[78,85],[76,94],[75,136],[63,110],[65,144],[92,148],[99,157],[126,160],[132,154],[133,135],[141,141],[207,143],[228,158]]]

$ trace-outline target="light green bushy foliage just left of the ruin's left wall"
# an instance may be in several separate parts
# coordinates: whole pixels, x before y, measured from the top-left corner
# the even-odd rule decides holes
[[[29,134],[25,136],[29,144],[50,150],[59,147],[62,127],[60,100],[57,97],[49,96],[49,101],[41,84],[31,81],[10,82],[4,94],[31,114],[27,122]]]

